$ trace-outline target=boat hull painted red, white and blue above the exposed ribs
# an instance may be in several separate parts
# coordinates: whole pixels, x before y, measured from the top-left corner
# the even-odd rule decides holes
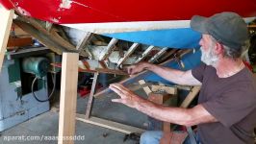
[[[192,15],[237,12],[256,16],[255,0],[0,0],[8,9],[50,23],[117,39],[170,48],[198,47]]]

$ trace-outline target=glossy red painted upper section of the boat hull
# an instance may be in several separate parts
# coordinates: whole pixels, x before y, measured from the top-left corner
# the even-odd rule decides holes
[[[196,3],[195,3],[196,2]],[[216,12],[256,15],[255,0],[75,0],[61,8],[62,0],[0,0],[16,9],[53,23],[99,23],[125,21],[188,20],[192,15],[210,16]]]

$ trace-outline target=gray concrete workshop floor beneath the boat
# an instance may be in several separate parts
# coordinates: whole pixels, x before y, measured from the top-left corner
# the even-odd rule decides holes
[[[129,124],[132,126],[140,127],[146,129],[145,125],[147,124],[147,116],[142,114],[141,112],[127,108],[120,104],[115,104],[111,102],[112,98],[115,98],[116,95],[108,95],[105,98],[96,99],[94,101],[94,107],[92,110],[93,116],[98,116],[102,118],[108,118],[111,120],[115,120],[120,123]],[[87,98],[78,97],[77,101],[77,112],[85,113],[86,104],[88,101]],[[38,115],[37,117],[16,125],[15,127],[1,132],[0,136],[0,144],[16,144],[16,143],[26,143],[26,144],[56,144],[57,140],[54,140],[52,136],[58,135],[58,127],[59,127],[59,112],[56,108],[52,108],[50,111],[45,112],[43,114]],[[80,136],[82,140],[76,140],[75,144],[135,144],[134,140],[127,140],[123,142],[123,138],[125,133],[115,132],[109,129],[101,128],[98,126],[93,126],[90,124],[86,124],[80,121],[76,121],[76,136]],[[106,136],[107,135],[107,136]],[[10,136],[19,136],[12,137]],[[38,140],[30,140],[20,138],[27,136],[37,136],[31,138],[38,138]],[[51,136],[51,137],[49,137]],[[30,137],[27,137],[30,138]],[[47,138],[47,139],[44,139]],[[49,139],[51,138],[51,139]],[[49,139],[49,140],[48,140]]]

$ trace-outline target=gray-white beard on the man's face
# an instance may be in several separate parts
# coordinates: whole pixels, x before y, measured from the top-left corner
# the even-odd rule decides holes
[[[215,67],[218,63],[218,56],[213,53],[213,49],[209,48],[208,51],[204,51],[202,47],[200,49],[202,52],[201,60],[205,64],[212,65]]]

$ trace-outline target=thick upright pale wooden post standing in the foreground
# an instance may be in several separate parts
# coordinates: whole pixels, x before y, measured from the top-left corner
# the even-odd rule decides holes
[[[74,136],[75,134],[78,59],[79,54],[77,53],[63,54],[59,137]],[[72,139],[60,138],[58,140],[58,144],[73,143],[74,141]]]

